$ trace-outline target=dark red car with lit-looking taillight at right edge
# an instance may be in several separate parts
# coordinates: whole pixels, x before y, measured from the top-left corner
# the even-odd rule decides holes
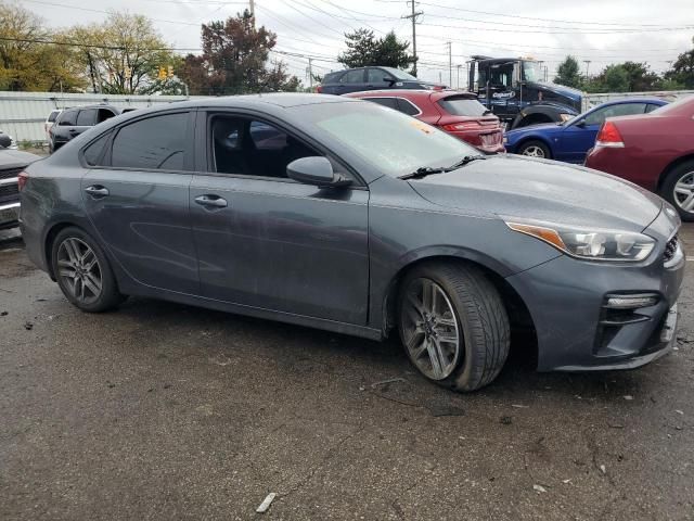
[[[586,165],[659,193],[694,220],[694,96],[651,114],[611,117]]]

